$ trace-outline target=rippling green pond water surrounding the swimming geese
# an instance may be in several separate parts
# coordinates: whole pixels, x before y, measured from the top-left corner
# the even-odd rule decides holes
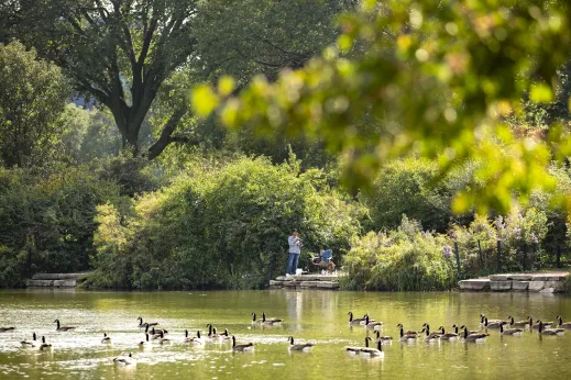
[[[350,356],[348,345],[364,345],[362,326],[350,327],[348,312],[384,322],[384,357]],[[283,317],[281,326],[252,325],[250,314]],[[571,331],[563,336],[501,337],[481,344],[398,342],[397,323],[406,329],[466,324],[479,328],[480,313],[490,318],[571,321],[571,298],[527,293],[376,293],[333,291],[184,291],[95,292],[0,291],[0,379],[570,379]],[[144,334],[138,316],[158,322],[172,343],[140,349]],[[74,332],[56,332],[55,318]],[[253,353],[232,353],[231,344],[186,345],[184,331],[196,334],[211,323],[234,334],[238,344],[255,343]],[[24,349],[20,340],[44,335],[48,351]],[[103,333],[112,343],[101,344]],[[311,353],[289,353],[287,337],[312,342]],[[135,366],[113,358],[131,351]]]

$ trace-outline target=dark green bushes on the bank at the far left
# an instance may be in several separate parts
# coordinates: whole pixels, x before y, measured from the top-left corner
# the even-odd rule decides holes
[[[89,168],[46,177],[0,169],[0,286],[20,287],[34,272],[89,269],[97,205],[117,197],[117,187]]]

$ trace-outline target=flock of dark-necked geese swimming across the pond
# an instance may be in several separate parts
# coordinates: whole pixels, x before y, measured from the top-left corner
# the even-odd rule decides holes
[[[363,355],[367,357],[384,357],[383,351],[383,344],[388,344],[393,342],[392,336],[383,336],[381,335],[381,329],[383,327],[383,322],[375,321],[369,316],[369,314],[364,314],[363,317],[354,318],[353,313],[349,312],[349,326],[363,326],[366,332],[366,336],[364,338],[365,345],[360,346],[348,346],[343,349],[348,351],[350,355]],[[262,325],[262,326],[274,326],[279,325],[283,322],[283,318],[276,318],[276,317],[266,317],[265,313],[262,313],[261,318],[256,318],[256,313],[252,313],[252,325]],[[487,316],[484,314],[480,314],[480,329],[477,331],[469,331],[465,325],[461,325],[460,327],[458,325],[452,325],[452,328],[454,329],[453,333],[446,332],[443,326],[440,326],[436,332],[430,331],[430,325],[428,323],[425,323],[422,325],[421,331],[405,331],[403,324],[398,324],[397,328],[399,332],[398,340],[404,343],[413,343],[418,340],[425,340],[427,343],[436,343],[441,340],[459,340],[459,342],[465,342],[465,343],[479,343],[484,342],[490,334],[487,333],[488,329],[498,329],[499,334],[502,336],[509,335],[509,336],[517,336],[521,335],[525,329],[537,329],[539,336],[545,335],[563,335],[565,329],[571,329],[571,322],[563,322],[563,318],[561,315],[558,315],[556,317],[557,322],[542,322],[541,320],[538,320],[534,323],[534,320],[528,316],[527,320],[524,321],[515,321],[513,316],[508,316],[507,320],[488,320]],[[144,328],[145,339],[139,342],[139,347],[143,348],[145,346],[151,345],[152,343],[156,344],[169,344],[172,342],[168,331],[164,328],[158,328],[158,323],[145,323],[143,322],[143,318],[140,316],[138,318],[139,321],[139,328]],[[59,320],[55,320],[54,323],[56,323],[56,331],[57,332],[73,332],[77,328],[77,326],[62,326],[59,323]],[[551,328],[554,326],[554,328]],[[212,326],[211,324],[207,324],[206,327],[208,327],[208,335],[205,336],[201,335],[200,331],[196,332],[196,336],[189,336],[188,329],[185,329],[185,336],[182,338],[182,343],[188,344],[188,345],[197,345],[197,346],[204,346],[206,344],[223,344],[223,343],[232,343],[232,351],[251,351],[254,349],[254,343],[245,343],[245,344],[237,344],[235,336],[230,335],[228,332],[228,328],[224,328],[223,333],[218,333],[218,329],[216,326]],[[0,327],[0,333],[6,333],[9,331],[13,331],[15,327]],[[369,336],[369,332],[373,332],[375,334],[375,338],[371,338]],[[314,343],[301,343],[296,344],[294,343],[294,337],[288,337],[288,350],[290,351],[310,351],[314,347]],[[370,347],[369,343],[375,342],[375,347]],[[107,333],[103,333],[103,337],[101,338],[101,344],[110,344],[111,337],[107,335]],[[37,336],[35,333],[32,335],[32,340],[22,340],[21,342],[22,347],[24,348],[37,348],[40,350],[47,350],[52,349],[52,344],[45,342],[45,336],[41,337],[41,342],[37,339]],[[116,357],[113,359],[116,364],[124,365],[124,366],[132,366],[136,365],[136,360],[133,358],[132,353],[123,353],[122,355]]]

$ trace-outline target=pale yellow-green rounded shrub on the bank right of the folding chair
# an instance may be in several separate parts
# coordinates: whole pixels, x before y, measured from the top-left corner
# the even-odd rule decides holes
[[[446,290],[455,286],[452,258],[444,255],[446,235],[422,232],[403,216],[398,230],[370,232],[353,241],[344,257],[349,288],[364,290]]]

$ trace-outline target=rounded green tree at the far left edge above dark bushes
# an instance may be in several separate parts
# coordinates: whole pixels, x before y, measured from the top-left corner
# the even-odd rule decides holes
[[[0,157],[7,167],[43,166],[58,154],[69,88],[61,69],[20,43],[0,45]]]

